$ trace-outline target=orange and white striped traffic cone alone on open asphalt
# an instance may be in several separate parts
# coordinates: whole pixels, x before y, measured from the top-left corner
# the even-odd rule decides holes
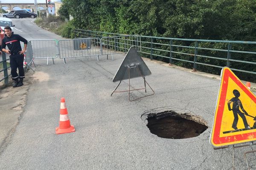
[[[70,125],[70,120],[67,116],[67,107],[65,104],[65,99],[61,98],[61,110],[60,110],[60,122],[59,127],[56,127],[56,134],[70,133],[75,131],[75,127]]]

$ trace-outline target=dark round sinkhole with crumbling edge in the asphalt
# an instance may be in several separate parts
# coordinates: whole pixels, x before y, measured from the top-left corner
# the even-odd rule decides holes
[[[161,138],[185,139],[199,136],[208,127],[198,117],[178,114],[175,111],[149,113],[147,127],[151,133]]]

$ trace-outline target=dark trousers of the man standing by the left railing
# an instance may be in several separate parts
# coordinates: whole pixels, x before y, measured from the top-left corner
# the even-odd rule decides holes
[[[23,80],[23,78],[25,78],[24,69],[23,69],[23,61],[24,61],[23,54],[10,55],[11,74],[12,74],[12,79],[14,81],[18,81],[19,77],[20,77],[21,81]],[[19,75],[17,74],[17,68],[19,70]]]

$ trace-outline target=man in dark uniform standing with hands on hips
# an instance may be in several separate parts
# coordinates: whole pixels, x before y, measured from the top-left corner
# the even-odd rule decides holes
[[[11,66],[12,79],[14,80],[12,87],[13,88],[20,87],[23,85],[23,79],[25,78],[24,69],[23,69],[23,60],[24,60],[24,52],[26,51],[28,41],[18,34],[13,34],[12,28],[9,26],[6,26],[4,28],[4,32],[6,36],[3,38],[1,50],[7,54],[11,54],[10,66]],[[24,42],[23,49],[21,49],[20,41]],[[9,50],[5,49],[6,45],[9,48]],[[17,68],[19,70],[19,75],[17,74]]]

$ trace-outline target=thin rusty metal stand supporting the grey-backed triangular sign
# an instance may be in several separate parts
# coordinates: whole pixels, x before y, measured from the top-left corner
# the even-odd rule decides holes
[[[142,75],[142,72],[141,72],[141,70],[140,70],[140,65],[139,65],[139,64],[137,64],[137,65],[134,65],[134,64],[127,65],[127,66],[125,67],[124,71],[122,72],[122,78],[123,78],[123,75],[124,75],[125,70],[126,70],[127,68],[128,68],[128,75],[129,75],[129,90],[128,90],[128,92],[129,92],[129,101],[132,102],[132,101],[134,101],[134,100],[141,99],[141,98],[143,98],[143,97],[153,95],[153,94],[154,94],[154,91],[153,91],[153,89],[150,87],[150,85],[148,84],[148,82],[145,80],[145,76]],[[131,86],[131,85],[130,85],[130,69],[137,69],[137,71],[140,72],[141,77],[144,79],[144,88],[138,88],[138,89],[134,89],[134,90],[131,90],[131,89],[130,89],[130,86]],[[118,83],[118,85],[116,86],[115,90],[111,93],[110,96],[112,96],[113,93],[126,92],[126,91],[116,91],[116,89],[118,88],[118,86],[119,86],[120,83],[122,82],[122,78],[121,78],[120,82]],[[151,90],[153,91],[153,94],[149,94],[149,95],[146,95],[146,96],[139,97],[139,98],[137,98],[137,99],[132,99],[132,100],[131,100],[131,97],[130,97],[130,92],[131,92],[131,91],[143,90],[143,89],[145,89],[145,93],[147,92],[147,90],[146,90],[146,83],[147,83],[148,87],[151,88]]]

